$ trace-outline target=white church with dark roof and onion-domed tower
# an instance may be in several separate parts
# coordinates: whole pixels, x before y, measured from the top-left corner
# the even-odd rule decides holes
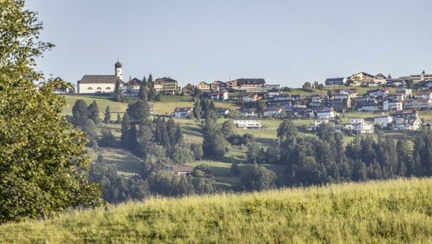
[[[119,60],[115,63],[114,75],[84,75],[77,82],[77,93],[113,93],[117,81],[120,86],[125,84]]]

